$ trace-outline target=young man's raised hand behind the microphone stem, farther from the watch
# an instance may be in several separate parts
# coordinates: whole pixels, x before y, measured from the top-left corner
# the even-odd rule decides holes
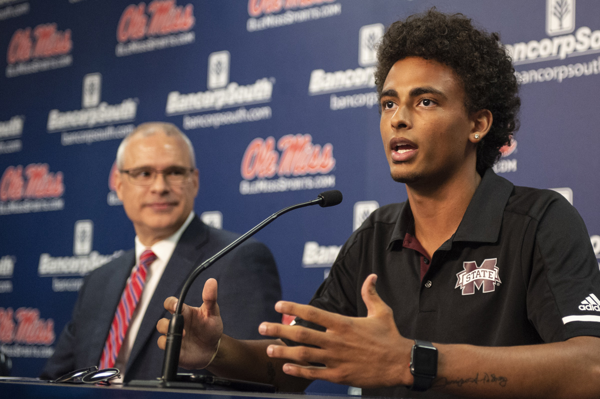
[[[170,296],[164,301],[164,308],[171,314],[175,313],[178,299]],[[181,313],[184,316],[184,337],[181,343],[179,366],[187,369],[205,368],[217,351],[218,341],[223,335],[223,321],[217,304],[217,280],[209,278],[202,290],[203,304],[199,308],[183,305]],[[157,330],[167,334],[169,319],[160,319]],[[166,335],[158,338],[158,347],[164,350],[167,342]]]

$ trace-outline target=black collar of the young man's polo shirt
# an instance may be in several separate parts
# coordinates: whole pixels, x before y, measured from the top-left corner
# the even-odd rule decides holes
[[[488,168],[451,241],[496,242],[500,235],[504,208],[513,188],[511,182]],[[414,230],[415,221],[409,202],[406,201],[400,211],[388,248],[394,241],[404,240],[406,233],[413,234]]]

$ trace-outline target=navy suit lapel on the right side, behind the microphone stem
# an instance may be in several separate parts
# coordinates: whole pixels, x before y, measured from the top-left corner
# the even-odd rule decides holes
[[[169,296],[179,296],[188,274],[197,265],[197,261],[205,256],[204,251],[200,248],[206,241],[208,241],[208,227],[196,216],[181,235],[169,263],[164,268],[163,276],[158,282],[154,295],[150,299],[127,361],[127,371],[146,345],[146,341],[154,334],[158,320],[167,317],[169,312],[164,310],[164,300]],[[156,343],[153,344],[156,345]]]

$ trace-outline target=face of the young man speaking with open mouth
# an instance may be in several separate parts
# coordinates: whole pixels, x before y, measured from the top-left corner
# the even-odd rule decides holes
[[[383,83],[380,130],[395,181],[439,182],[475,170],[474,122],[464,99],[463,85],[446,65],[409,57],[392,66]]]

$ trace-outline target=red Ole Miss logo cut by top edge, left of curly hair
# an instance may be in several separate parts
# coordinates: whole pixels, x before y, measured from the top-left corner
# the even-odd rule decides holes
[[[248,0],[248,32],[293,25],[341,14],[336,0]]]

